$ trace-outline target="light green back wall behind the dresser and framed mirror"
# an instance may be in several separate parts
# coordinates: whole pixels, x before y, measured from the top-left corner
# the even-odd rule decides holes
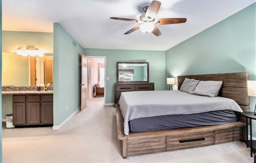
[[[149,62],[149,82],[155,83],[155,90],[165,90],[165,51],[84,49],[84,55],[106,56],[106,104],[114,103],[116,62]]]

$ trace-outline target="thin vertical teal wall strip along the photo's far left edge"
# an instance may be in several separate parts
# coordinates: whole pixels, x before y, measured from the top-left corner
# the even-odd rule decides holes
[[[2,51],[2,0],[0,0],[0,51]],[[0,77],[2,79],[2,53],[0,57]],[[0,80],[0,91],[2,94],[2,80]],[[2,117],[2,96],[0,96],[0,117]],[[0,123],[0,127],[2,128],[2,123]],[[0,130],[0,163],[2,163],[2,130]]]

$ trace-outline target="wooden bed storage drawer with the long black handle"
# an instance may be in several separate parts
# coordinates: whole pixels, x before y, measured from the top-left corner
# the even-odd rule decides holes
[[[214,131],[166,136],[166,151],[214,144]]]

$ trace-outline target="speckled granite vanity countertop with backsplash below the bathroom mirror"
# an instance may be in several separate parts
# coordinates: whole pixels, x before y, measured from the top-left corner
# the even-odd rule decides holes
[[[2,86],[2,94],[53,94],[53,86],[40,87],[36,86]]]

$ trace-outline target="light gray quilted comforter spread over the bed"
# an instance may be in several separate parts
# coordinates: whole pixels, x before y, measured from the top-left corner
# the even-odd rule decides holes
[[[126,135],[129,134],[128,122],[136,118],[216,110],[243,112],[232,99],[198,96],[179,90],[122,92],[119,105],[124,117],[124,134]]]

